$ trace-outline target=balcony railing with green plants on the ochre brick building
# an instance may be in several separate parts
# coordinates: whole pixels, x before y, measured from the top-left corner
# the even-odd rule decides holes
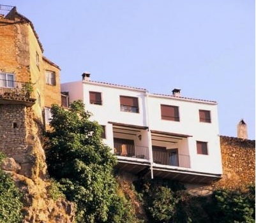
[[[0,99],[34,102],[33,85],[29,82],[0,79]]]

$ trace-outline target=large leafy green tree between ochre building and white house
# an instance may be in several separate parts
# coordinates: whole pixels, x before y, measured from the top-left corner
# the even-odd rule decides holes
[[[77,222],[118,219],[114,216],[123,213],[118,207],[125,204],[117,198],[112,173],[117,160],[102,142],[102,127],[89,120],[91,114],[81,101],[72,103],[70,110],[53,105],[51,112],[52,130],[47,132],[45,144],[47,165],[66,198],[76,204]]]

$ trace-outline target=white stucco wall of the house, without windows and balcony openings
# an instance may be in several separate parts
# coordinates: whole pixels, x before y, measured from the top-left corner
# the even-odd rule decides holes
[[[62,91],[70,92],[70,101],[82,99],[86,110],[91,111],[91,120],[106,126],[107,145],[113,147],[113,129],[109,122],[118,122],[135,126],[146,126],[149,130],[167,133],[186,134],[191,137],[183,138],[179,143],[168,148],[179,147],[179,154],[190,156],[190,170],[202,173],[222,174],[220,140],[218,130],[217,104],[214,102],[160,96],[149,94],[144,89],[135,89],[100,82],[72,82],[61,85]],[[89,103],[89,91],[102,93],[102,105]],[[120,110],[119,96],[137,97],[139,113]],[[179,122],[162,120],[161,104],[179,107]],[[211,111],[211,123],[199,121],[199,110]],[[144,132],[142,141],[130,136],[136,145],[150,147],[151,142]],[[206,141],[208,155],[197,154],[196,141]]]

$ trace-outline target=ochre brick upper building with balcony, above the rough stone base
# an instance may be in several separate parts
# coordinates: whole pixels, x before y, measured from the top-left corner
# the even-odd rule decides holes
[[[13,6],[0,10],[0,104],[33,106],[43,122],[47,108],[61,104],[60,68],[43,56],[32,22]]]

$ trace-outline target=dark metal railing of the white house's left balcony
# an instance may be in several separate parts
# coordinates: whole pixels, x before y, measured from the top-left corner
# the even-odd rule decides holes
[[[124,157],[149,159],[149,148],[114,142],[114,153]]]

